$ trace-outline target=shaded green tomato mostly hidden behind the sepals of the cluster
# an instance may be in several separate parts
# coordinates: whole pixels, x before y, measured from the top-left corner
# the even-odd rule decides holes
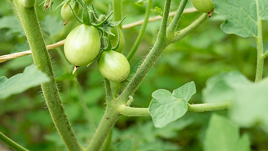
[[[111,42],[112,46],[115,47],[117,42],[118,42],[118,32],[117,32],[117,27],[113,27],[111,32],[115,34],[115,36],[111,36]],[[120,42],[119,42],[119,47],[116,49],[117,52],[122,52],[124,46],[125,46],[125,38],[122,30],[119,28],[119,37],[120,37]]]

